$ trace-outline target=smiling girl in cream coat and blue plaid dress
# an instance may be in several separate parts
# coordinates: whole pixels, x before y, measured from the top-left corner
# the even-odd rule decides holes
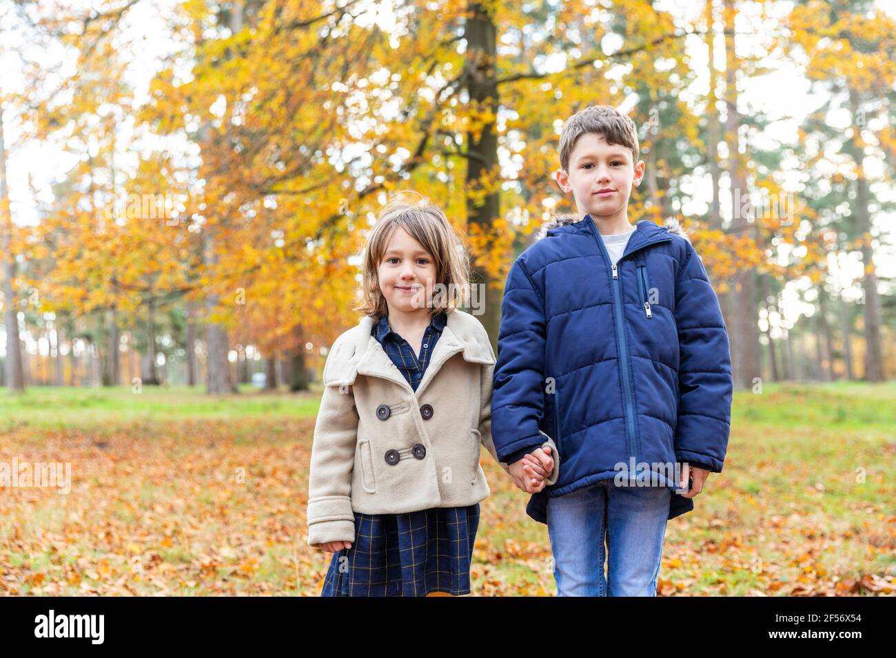
[[[393,198],[363,255],[358,326],[323,368],[308,482],[308,543],[333,553],[324,596],[470,594],[488,485],[480,445],[525,491],[556,482],[556,446],[513,466],[491,438],[495,355],[458,310],[469,259],[444,213]]]

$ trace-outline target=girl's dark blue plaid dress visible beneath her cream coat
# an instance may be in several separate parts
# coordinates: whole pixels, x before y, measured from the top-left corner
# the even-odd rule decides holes
[[[419,356],[392,331],[387,317],[371,331],[415,391],[446,320],[444,312],[433,316]],[[321,595],[470,594],[470,558],[478,525],[478,503],[404,514],[355,512],[355,541],[350,549],[333,553]]]

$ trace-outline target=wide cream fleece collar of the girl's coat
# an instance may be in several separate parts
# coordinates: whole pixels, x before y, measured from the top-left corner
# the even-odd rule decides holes
[[[339,350],[324,372],[326,386],[350,386],[361,374],[394,381],[413,392],[408,381],[401,376],[383,346],[371,333],[378,321],[379,318],[365,316],[357,327],[349,329],[341,337]],[[442,364],[458,353],[463,355],[464,361],[470,363],[495,363],[491,343],[479,320],[470,313],[455,310],[447,315],[442,336],[435,344],[433,354],[429,357],[429,365],[418,385],[418,396],[423,393]]]

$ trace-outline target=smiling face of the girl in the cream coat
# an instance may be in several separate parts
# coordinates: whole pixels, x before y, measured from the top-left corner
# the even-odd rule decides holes
[[[389,311],[426,309],[435,286],[435,259],[399,226],[376,269],[380,290]]]

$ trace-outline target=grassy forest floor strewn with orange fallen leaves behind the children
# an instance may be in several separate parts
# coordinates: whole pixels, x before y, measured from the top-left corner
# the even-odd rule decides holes
[[[305,523],[319,398],[0,392],[0,594],[319,594],[330,554]],[[896,594],[893,399],[896,382],[738,393],[723,472],[668,522],[658,594]],[[56,483],[26,480],[36,463],[60,464]],[[472,594],[554,594],[547,526],[481,463]]]

